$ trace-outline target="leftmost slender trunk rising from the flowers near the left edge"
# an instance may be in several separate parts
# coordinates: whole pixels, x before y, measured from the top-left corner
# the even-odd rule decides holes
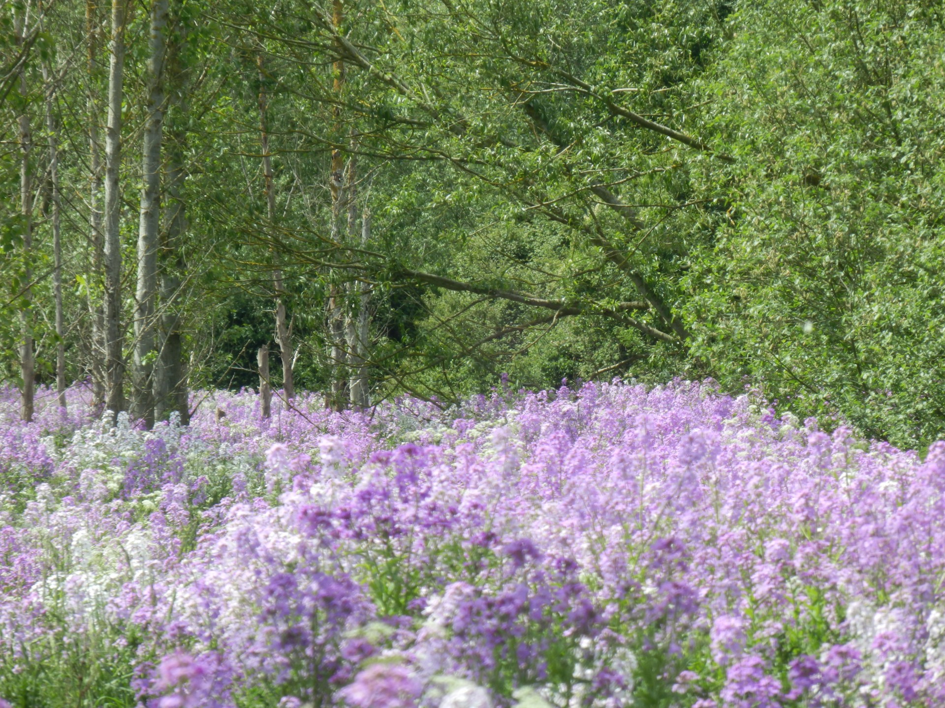
[[[28,6],[27,6],[28,7]],[[26,18],[28,9],[21,16],[17,13],[13,18],[13,31],[17,45],[24,42],[26,37]],[[30,261],[33,251],[33,185],[30,172],[29,158],[33,151],[33,137],[29,125],[29,92],[26,85],[26,67],[20,68],[19,92],[22,112],[17,117],[20,142],[20,213],[23,215],[23,282],[29,283],[33,279]],[[23,327],[23,339],[20,343],[20,376],[23,379],[21,390],[20,416],[29,422],[33,419],[35,394],[35,362],[33,353],[33,291],[28,285],[22,295],[26,306],[20,311],[20,322]]]

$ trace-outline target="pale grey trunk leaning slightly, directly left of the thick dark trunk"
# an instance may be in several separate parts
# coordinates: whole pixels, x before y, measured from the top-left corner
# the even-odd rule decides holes
[[[164,55],[168,0],[151,4],[148,101],[142,149],[141,216],[138,225],[138,287],[135,291],[134,360],[131,366],[131,417],[154,425],[151,378],[154,369],[154,303],[158,291],[158,238],[161,230],[161,143],[164,125]]]

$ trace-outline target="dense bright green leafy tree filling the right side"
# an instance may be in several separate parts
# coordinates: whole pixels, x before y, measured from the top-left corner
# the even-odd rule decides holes
[[[738,162],[694,259],[693,351],[785,409],[927,444],[945,424],[938,10],[762,4],[732,32],[704,86]]]

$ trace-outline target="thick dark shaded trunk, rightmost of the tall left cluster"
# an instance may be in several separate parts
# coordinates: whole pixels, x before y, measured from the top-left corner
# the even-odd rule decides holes
[[[176,18],[177,21],[179,19]],[[165,420],[171,411],[180,414],[180,424],[189,420],[186,365],[183,362],[182,334],[180,332],[180,272],[184,269],[180,243],[187,229],[183,186],[187,178],[184,169],[187,113],[187,71],[180,65],[185,28],[178,27],[180,43],[169,48],[167,60],[170,84],[171,113],[168,116],[167,174],[164,228],[161,236],[161,333],[158,359],[154,369],[154,416]]]

